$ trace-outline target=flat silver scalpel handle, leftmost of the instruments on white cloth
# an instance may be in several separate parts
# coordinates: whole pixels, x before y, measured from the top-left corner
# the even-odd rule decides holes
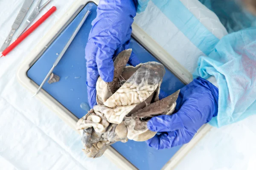
[[[19,28],[21,22],[23,21],[26,13],[28,12],[28,10],[29,10],[30,6],[32,5],[33,1],[34,0],[25,0],[25,2],[23,3],[23,5],[22,5],[22,7],[19,11],[19,14],[17,15],[14,23],[12,24],[12,30],[10,31],[6,40],[4,40],[4,43],[3,43],[0,51],[4,51],[8,47],[8,45],[10,44],[13,34]]]

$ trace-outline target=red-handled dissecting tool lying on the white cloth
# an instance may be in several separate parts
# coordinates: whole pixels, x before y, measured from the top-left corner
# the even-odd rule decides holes
[[[53,12],[56,11],[56,7],[52,6],[52,8],[49,9],[49,11],[47,11],[47,13],[45,13],[35,24],[33,24],[27,31],[25,31],[20,37],[17,38],[17,40],[15,42],[13,42],[9,47],[7,47],[3,52],[2,52],[2,56],[6,56],[9,52],[11,52],[17,45],[20,44],[20,42],[22,42],[26,37],[29,36],[29,34],[31,34],[33,31],[35,31],[36,28],[38,28],[38,26],[41,25],[41,23],[43,23]]]

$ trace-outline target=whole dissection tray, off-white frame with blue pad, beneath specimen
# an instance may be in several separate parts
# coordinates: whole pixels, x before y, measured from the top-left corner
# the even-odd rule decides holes
[[[88,0],[76,1],[41,40],[37,48],[29,54],[17,72],[20,83],[34,93],[86,11],[90,10],[90,16],[53,71],[61,77],[60,81],[53,84],[46,83],[37,95],[38,99],[74,129],[77,120],[90,109],[87,101],[84,48],[92,27],[91,22],[96,17],[97,3]],[[133,24],[130,48],[141,62],[158,61],[165,65],[166,74],[161,89],[167,94],[174,93],[192,80],[186,69],[135,24]],[[154,150],[145,142],[131,140],[127,143],[117,142],[105,152],[105,156],[122,169],[169,170],[209,129],[209,125],[204,125],[189,144],[166,150]]]

